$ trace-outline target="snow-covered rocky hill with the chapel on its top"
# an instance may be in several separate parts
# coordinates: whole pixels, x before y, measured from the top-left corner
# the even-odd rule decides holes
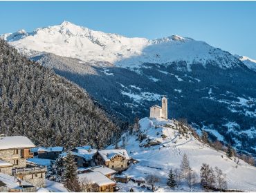
[[[206,163],[213,169],[218,167],[222,170],[223,176],[226,174],[226,188],[255,192],[256,167],[235,156],[228,158],[226,152],[211,148],[194,134],[190,126],[174,119],[149,118],[141,119],[137,126],[133,131],[125,133],[118,143],[138,161],[122,173],[122,176],[132,181],[118,183],[121,191],[127,192],[132,188],[136,192],[147,192],[147,185],[139,186],[133,181],[147,181],[147,176],[153,175],[159,180],[156,192],[201,192],[200,170],[203,163]],[[169,171],[179,171],[184,154],[188,157],[194,179],[190,185],[188,181],[180,179],[176,181],[178,187],[171,189],[167,186]],[[212,186],[217,188],[217,181]]]

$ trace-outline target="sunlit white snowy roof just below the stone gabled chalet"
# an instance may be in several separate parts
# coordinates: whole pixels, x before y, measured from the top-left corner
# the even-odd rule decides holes
[[[110,184],[116,184],[114,181],[111,181],[111,179],[104,176],[104,174],[100,172],[89,172],[84,174],[78,174],[79,181],[82,181],[84,178],[86,178],[88,181],[91,181],[91,183],[96,183],[99,186],[102,185],[110,185]]]

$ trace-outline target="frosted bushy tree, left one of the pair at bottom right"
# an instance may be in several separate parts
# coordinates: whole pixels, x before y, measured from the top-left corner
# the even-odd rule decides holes
[[[215,176],[214,176],[212,167],[210,167],[206,163],[203,163],[203,165],[201,166],[201,170],[200,170],[200,176],[201,176],[201,185],[206,190],[209,190],[210,187],[213,187],[213,185],[215,183]]]

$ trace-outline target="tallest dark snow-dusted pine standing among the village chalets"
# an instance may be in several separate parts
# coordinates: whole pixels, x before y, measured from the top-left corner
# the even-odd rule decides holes
[[[66,154],[64,162],[64,184],[71,192],[80,192],[80,183],[77,178],[77,167],[71,152]]]

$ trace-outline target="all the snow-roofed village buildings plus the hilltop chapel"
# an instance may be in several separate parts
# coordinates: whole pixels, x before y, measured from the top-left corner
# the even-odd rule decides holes
[[[162,107],[150,108],[151,118],[167,119],[167,99],[163,96]],[[137,163],[125,149],[97,150],[90,145],[73,148],[36,147],[26,136],[0,138],[0,192],[36,192],[37,187],[46,187],[46,174],[51,163],[65,159],[71,153],[77,167],[80,182],[86,179],[96,189],[94,192],[116,192],[116,183],[145,183],[131,179],[122,172]]]

